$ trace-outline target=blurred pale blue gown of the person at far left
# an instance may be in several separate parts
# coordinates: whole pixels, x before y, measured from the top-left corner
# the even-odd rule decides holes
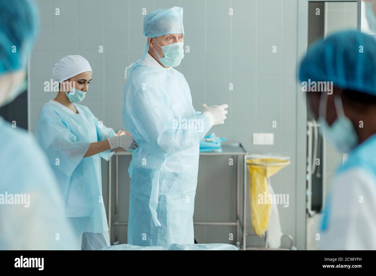
[[[26,131],[1,117],[0,133],[0,250],[74,249],[73,229],[45,155]],[[9,204],[15,195],[26,201]]]

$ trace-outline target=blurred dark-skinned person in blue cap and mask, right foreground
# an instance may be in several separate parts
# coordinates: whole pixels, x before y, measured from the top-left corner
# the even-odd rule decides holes
[[[313,44],[299,68],[324,137],[348,154],[335,172],[321,225],[321,249],[376,249],[376,40],[342,31]],[[325,87],[320,84],[320,87]],[[306,87],[308,88],[308,87]],[[318,90],[318,89],[314,89]]]

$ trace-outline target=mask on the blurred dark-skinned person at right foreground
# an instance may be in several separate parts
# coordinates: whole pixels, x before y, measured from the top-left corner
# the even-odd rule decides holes
[[[321,129],[324,135],[329,139],[338,151],[342,153],[350,152],[358,144],[358,135],[355,128],[349,118],[346,117],[342,101],[339,96],[334,96],[335,110],[337,113],[337,119],[332,125],[326,122],[326,104],[327,94],[321,95],[319,119]]]

